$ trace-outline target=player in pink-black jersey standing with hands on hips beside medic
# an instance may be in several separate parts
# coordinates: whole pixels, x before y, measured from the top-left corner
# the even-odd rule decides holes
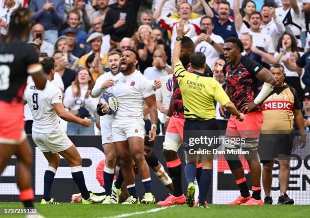
[[[229,168],[236,179],[241,196],[228,203],[229,205],[263,205],[260,197],[261,167],[257,155],[259,130],[263,122],[260,103],[272,92],[276,84],[275,77],[260,64],[241,55],[243,44],[240,39],[229,37],[223,47],[227,63],[223,66],[226,76],[226,93],[237,109],[245,113],[245,119],[241,123],[236,116],[230,116],[227,123],[226,137],[244,138],[245,144],[241,145],[249,154],[246,155],[252,179],[252,196],[249,193],[244,175],[242,163],[238,154],[225,155]],[[264,82],[258,94],[258,81]],[[224,117],[223,107],[220,113]],[[225,145],[226,150],[240,147]]]

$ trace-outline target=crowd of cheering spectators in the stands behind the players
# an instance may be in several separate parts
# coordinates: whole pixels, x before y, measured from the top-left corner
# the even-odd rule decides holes
[[[158,124],[163,126],[173,91],[171,54],[180,19],[189,29],[186,36],[195,43],[195,51],[205,54],[214,79],[223,88],[224,40],[235,36],[243,42],[243,55],[267,69],[282,64],[285,82],[297,91],[300,101],[309,93],[309,0],[153,0],[151,8],[141,10],[142,2],[0,0],[0,40],[10,31],[11,13],[18,7],[31,9],[29,43],[41,58],[54,57],[54,83],[63,92],[64,106],[76,116],[93,120],[89,129],[67,124],[68,135],[93,135],[100,128],[98,98],[92,98],[90,91],[98,76],[109,71],[107,53],[125,49],[137,51],[140,72],[147,79],[162,81],[156,96]],[[25,118],[31,123],[27,110]],[[217,119],[227,122],[227,117],[218,115]],[[148,122],[147,108],[144,120]],[[310,126],[306,118],[305,124]]]

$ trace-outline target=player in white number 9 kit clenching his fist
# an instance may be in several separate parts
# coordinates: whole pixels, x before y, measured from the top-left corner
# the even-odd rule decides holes
[[[87,117],[81,119],[65,110],[60,89],[50,82],[54,77],[55,60],[52,57],[47,57],[41,64],[44,72],[48,75],[45,89],[39,90],[34,82],[30,82],[23,96],[33,116],[32,139],[49,162],[44,175],[44,194],[41,204],[59,204],[51,198],[50,194],[60,161],[59,154],[70,164],[72,178],[83,197],[82,203],[100,202],[104,199],[104,196],[95,196],[87,190],[82,171],[82,158],[73,143],[60,128],[58,116],[68,122],[79,123],[85,127],[90,126],[91,120]]]

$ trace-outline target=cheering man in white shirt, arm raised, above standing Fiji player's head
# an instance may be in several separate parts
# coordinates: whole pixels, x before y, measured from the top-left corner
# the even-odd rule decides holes
[[[261,47],[266,53],[273,55],[275,53],[275,47],[272,37],[262,33],[260,30],[262,20],[261,14],[257,11],[252,12],[250,15],[250,29],[243,23],[241,14],[237,10],[234,10],[234,14],[236,30],[239,37],[242,33],[249,33],[253,39],[253,46]]]

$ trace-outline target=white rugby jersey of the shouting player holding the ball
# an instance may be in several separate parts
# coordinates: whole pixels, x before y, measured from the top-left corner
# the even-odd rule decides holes
[[[144,98],[155,94],[152,81],[137,70],[128,76],[119,73],[114,76],[113,80],[114,85],[111,90],[118,100],[118,110],[114,114],[113,120],[142,120]]]

